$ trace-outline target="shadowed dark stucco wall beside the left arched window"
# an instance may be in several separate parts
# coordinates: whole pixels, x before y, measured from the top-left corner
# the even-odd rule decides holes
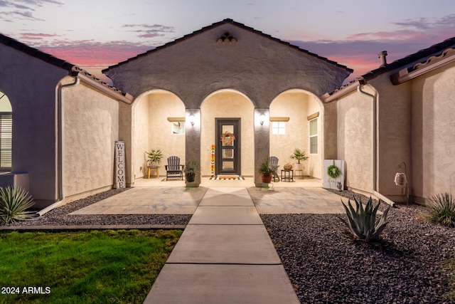
[[[68,75],[26,53],[0,44],[0,90],[13,108],[13,172],[28,172],[34,199],[55,201],[57,85]]]

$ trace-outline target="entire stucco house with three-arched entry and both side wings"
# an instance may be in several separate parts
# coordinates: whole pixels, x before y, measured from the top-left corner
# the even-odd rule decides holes
[[[199,162],[198,181],[238,174],[259,186],[263,159],[284,165],[299,148],[304,175],[322,180],[324,159],[344,159],[348,189],[393,201],[406,200],[394,184],[404,163],[424,203],[455,192],[454,48],[451,38],[382,57],[341,87],[350,68],[225,19],[107,68],[114,88],[0,35],[0,124],[12,124],[0,186],[20,185],[40,206],[110,189],[122,140],[127,186],[146,176],[151,149]]]

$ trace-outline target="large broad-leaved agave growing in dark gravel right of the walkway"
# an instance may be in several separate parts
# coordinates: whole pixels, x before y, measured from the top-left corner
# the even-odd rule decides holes
[[[365,242],[378,240],[379,235],[384,230],[385,225],[387,224],[385,220],[387,219],[387,213],[389,212],[390,206],[387,210],[382,213],[378,219],[376,219],[376,214],[378,212],[379,203],[373,209],[373,200],[368,200],[365,208],[363,205],[355,199],[355,209],[350,204],[350,199],[348,200],[348,206],[343,203],[341,200],[341,204],[343,204],[344,209],[346,210],[346,215],[348,216],[348,222],[342,221],[348,226],[348,229],[355,239],[359,239]]]

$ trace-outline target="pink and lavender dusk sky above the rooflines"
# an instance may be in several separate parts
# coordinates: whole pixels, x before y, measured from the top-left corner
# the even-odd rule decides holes
[[[233,19],[353,68],[455,36],[454,0],[0,0],[0,33],[95,73]],[[97,73],[95,73],[97,74]]]

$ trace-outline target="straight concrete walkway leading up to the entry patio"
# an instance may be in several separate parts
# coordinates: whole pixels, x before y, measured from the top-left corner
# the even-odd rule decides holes
[[[300,303],[245,187],[211,187],[144,303]]]

